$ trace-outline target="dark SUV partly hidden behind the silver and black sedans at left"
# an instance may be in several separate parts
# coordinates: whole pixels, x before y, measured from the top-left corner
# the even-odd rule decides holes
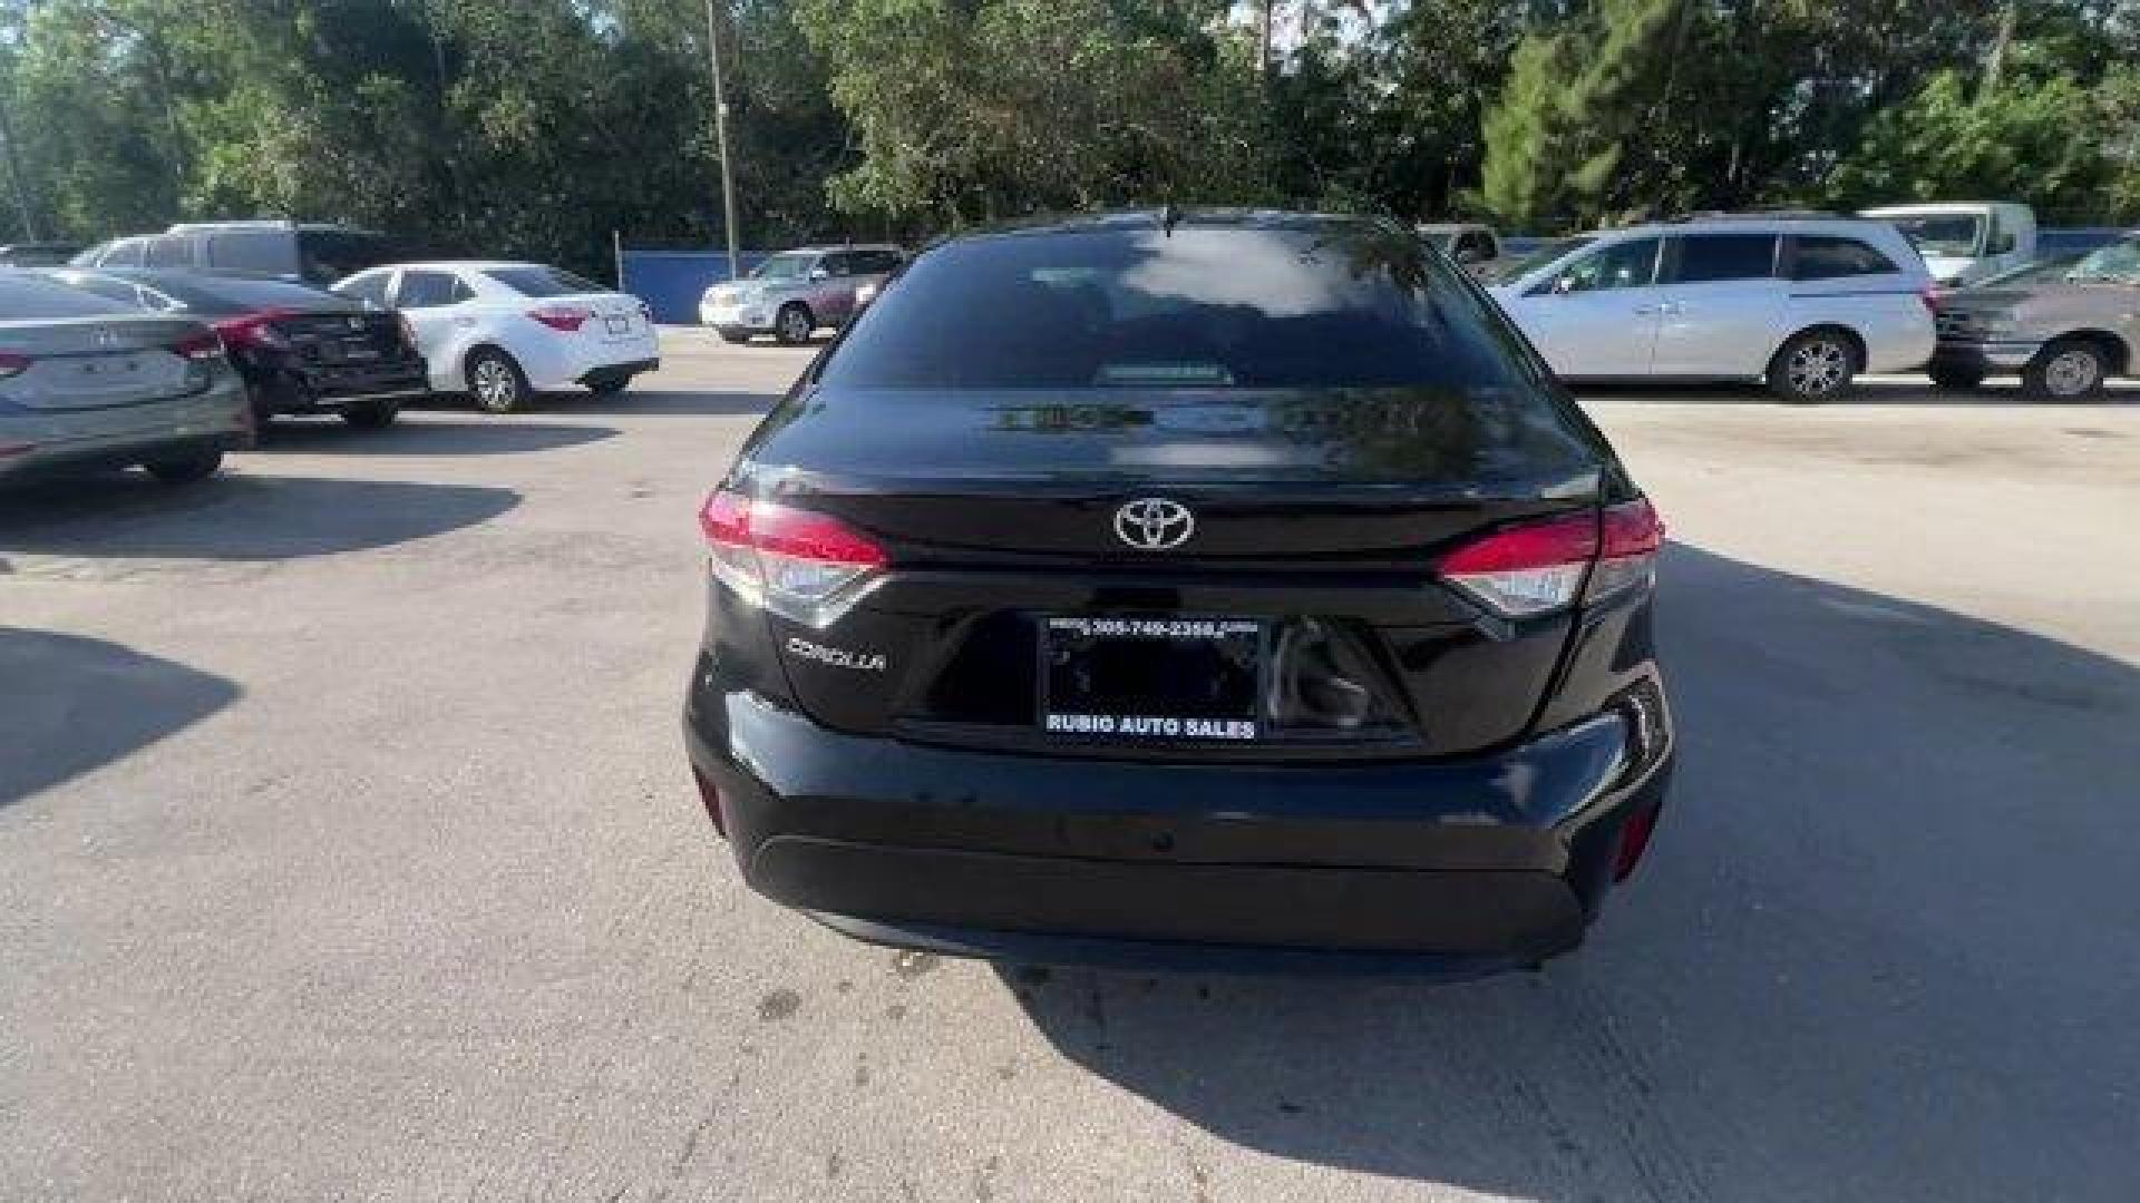
[[[407,259],[383,233],[295,220],[201,220],[163,233],[113,238],[71,259],[75,268],[143,268],[274,276],[327,287],[379,263]]]

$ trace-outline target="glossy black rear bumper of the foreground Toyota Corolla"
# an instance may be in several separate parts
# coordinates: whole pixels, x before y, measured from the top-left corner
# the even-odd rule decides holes
[[[1669,724],[1637,753],[1618,713],[1318,766],[957,751],[698,689],[685,730],[751,888],[860,940],[1044,963],[1537,963],[1581,942],[1671,773]]]

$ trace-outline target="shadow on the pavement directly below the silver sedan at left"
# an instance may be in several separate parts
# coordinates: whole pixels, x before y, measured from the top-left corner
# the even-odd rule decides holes
[[[225,473],[182,488],[146,473],[49,479],[0,492],[0,589],[26,572],[19,557],[317,557],[441,535],[518,503],[509,488],[400,479]]]

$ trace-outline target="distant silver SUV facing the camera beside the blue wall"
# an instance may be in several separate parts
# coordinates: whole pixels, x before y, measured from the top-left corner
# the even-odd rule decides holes
[[[800,345],[820,325],[845,325],[905,257],[897,246],[802,246],[781,250],[740,280],[713,285],[698,302],[698,319],[730,342],[773,334]]]

